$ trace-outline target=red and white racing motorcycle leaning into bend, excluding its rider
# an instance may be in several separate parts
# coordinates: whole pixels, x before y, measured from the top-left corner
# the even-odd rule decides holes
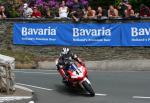
[[[95,92],[91,86],[91,82],[88,79],[87,68],[85,65],[81,65],[77,62],[65,61],[67,64],[67,76],[69,80],[63,82],[69,87],[81,87],[83,88],[90,96],[95,96]]]

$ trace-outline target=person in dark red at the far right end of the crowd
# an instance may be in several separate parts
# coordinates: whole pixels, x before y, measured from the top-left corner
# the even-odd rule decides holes
[[[150,8],[144,4],[140,5],[140,16],[141,17],[150,17]]]

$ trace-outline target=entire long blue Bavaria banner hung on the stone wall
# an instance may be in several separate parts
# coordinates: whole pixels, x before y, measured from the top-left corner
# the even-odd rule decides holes
[[[15,23],[13,42],[58,46],[150,46],[149,35],[150,23]]]

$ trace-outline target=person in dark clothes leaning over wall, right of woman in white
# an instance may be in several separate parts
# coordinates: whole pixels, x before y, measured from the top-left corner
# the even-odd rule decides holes
[[[71,12],[73,20],[76,22],[79,21],[83,17],[83,14],[83,5],[78,0],[74,0]]]

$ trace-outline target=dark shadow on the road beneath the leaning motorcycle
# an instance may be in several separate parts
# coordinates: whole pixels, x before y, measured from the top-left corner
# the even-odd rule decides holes
[[[71,88],[65,85],[55,84],[55,90],[63,95],[68,96],[90,97],[90,95],[86,94],[86,92],[82,88]]]

